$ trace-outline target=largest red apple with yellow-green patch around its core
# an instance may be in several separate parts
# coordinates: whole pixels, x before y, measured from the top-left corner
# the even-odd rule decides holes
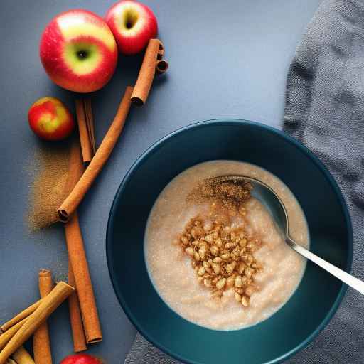
[[[107,23],[86,10],[55,16],[43,31],[41,61],[53,82],[75,92],[103,87],[117,65],[117,44]]]

